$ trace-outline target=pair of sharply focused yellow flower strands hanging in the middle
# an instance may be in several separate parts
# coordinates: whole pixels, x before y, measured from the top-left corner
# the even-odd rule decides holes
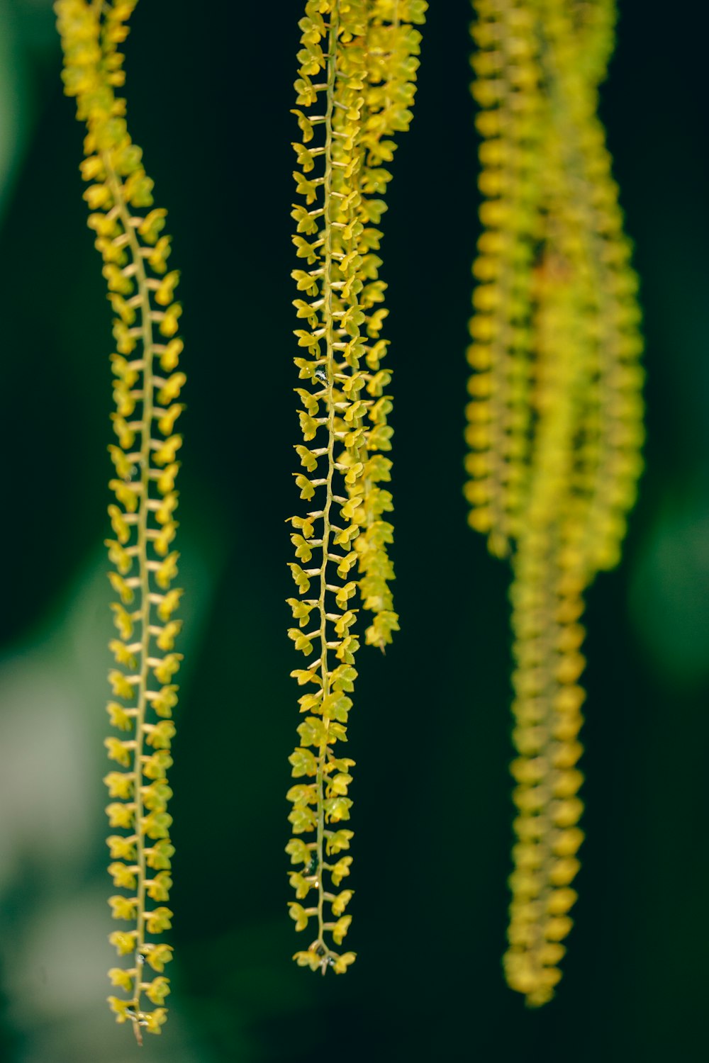
[[[299,26],[298,123],[293,145],[299,169],[292,217],[297,255],[307,269],[292,275],[302,298],[294,301],[307,327],[296,331],[305,357],[296,358],[304,387],[297,388],[303,443],[296,446],[304,472],[296,474],[301,497],[314,508],[290,522],[297,563],[290,566],[300,592],[288,600],[298,627],[289,636],[315,660],[292,675],[315,688],[300,698],[305,719],[290,757],[299,781],[288,792],[293,837],[286,851],[302,870],[290,874],[297,900],[290,914],[298,930],[309,921],[316,938],[296,954],[300,965],[344,973],[354,952],[339,952],[351,916],[351,890],[337,890],[350,874],[349,787],[354,762],[334,746],[347,739],[347,724],[359,647],[352,628],[356,596],[374,613],[367,634],[384,646],[396,629],[387,581],[393,577],[386,546],[391,525],[382,514],[391,495],[378,485],[390,478],[391,403],[384,394],[390,374],[381,369],[386,315],[384,284],[374,253],[385,204],[376,199],[390,179],[381,163],[391,157],[393,132],[406,129],[413,98],[415,53],[425,4],[385,0],[308,0]],[[305,109],[300,109],[305,108]],[[318,497],[318,502],[313,500]],[[350,578],[359,566],[361,579]],[[300,836],[315,834],[306,842]],[[326,880],[327,879],[327,880]],[[300,904],[309,899],[307,907]],[[328,911],[325,906],[327,906]]]

